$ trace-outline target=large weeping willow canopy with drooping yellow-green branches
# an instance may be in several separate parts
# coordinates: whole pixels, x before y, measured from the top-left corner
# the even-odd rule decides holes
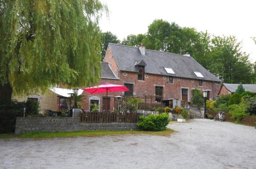
[[[97,0],[0,0],[0,100],[97,84],[103,13]]]

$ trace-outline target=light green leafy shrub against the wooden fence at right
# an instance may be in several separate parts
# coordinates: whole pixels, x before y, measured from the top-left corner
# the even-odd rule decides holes
[[[240,104],[232,104],[229,106],[229,114],[232,115],[232,118],[239,123],[244,116],[248,116],[248,112],[246,112],[246,105]]]

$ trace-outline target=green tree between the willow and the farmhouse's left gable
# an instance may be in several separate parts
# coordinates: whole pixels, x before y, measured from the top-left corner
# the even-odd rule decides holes
[[[116,35],[113,35],[111,32],[104,32],[101,34],[102,37],[102,52],[101,52],[101,61],[103,61],[106,53],[106,49],[108,49],[109,43],[120,43]]]

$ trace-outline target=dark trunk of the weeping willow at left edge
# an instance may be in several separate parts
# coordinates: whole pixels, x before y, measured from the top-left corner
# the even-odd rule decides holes
[[[8,104],[12,100],[12,87],[8,82],[4,86],[0,83],[0,105]]]

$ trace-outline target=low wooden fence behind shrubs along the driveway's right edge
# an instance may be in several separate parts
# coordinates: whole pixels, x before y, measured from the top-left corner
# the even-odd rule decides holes
[[[210,112],[208,112],[208,114],[215,117],[218,114],[218,112],[210,111]],[[228,113],[224,112],[223,115],[225,116],[224,121],[226,121],[226,122],[234,123],[236,121]],[[241,120],[240,123],[243,124],[243,125],[246,125],[246,126],[255,126],[256,125],[255,122],[256,122],[256,116],[245,116],[245,117],[243,117],[243,119]]]

